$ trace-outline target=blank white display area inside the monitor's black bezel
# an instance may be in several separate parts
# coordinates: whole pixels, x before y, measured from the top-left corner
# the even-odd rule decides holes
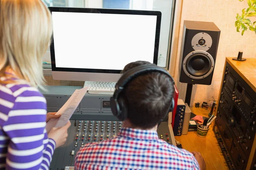
[[[157,16],[52,12],[59,68],[122,70],[153,62]]]

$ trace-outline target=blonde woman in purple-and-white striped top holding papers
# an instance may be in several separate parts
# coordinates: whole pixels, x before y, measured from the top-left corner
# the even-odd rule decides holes
[[[51,15],[41,0],[0,0],[0,169],[49,169],[67,128],[46,133],[42,56],[52,36]]]

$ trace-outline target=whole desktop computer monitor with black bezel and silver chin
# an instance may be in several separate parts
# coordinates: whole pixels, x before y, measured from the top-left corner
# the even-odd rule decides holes
[[[116,82],[130,62],[157,64],[160,11],[49,7],[56,80]]]

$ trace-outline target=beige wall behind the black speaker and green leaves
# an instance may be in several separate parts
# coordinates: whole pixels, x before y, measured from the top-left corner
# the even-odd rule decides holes
[[[176,35],[178,37],[178,46],[174,72],[175,82],[180,92],[179,98],[184,100],[186,94],[186,84],[178,82],[178,63],[183,20],[196,20],[214,22],[221,30],[221,37],[218,45],[212,85],[194,85],[190,105],[195,105],[195,102],[208,102],[208,99],[212,96],[218,99],[225,57],[237,57],[239,50],[242,50],[244,58],[256,58],[256,34],[253,31],[246,31],[241,36],[241,32],[236,32],[234,24],[236,14],[240,14],[243,8],[247,8],[247,0],[244,0],[244,2],[239,2],[239,0],[183,0],[181,5],[180,27]]]

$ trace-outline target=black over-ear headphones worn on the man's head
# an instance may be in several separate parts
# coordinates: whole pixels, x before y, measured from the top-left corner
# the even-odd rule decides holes
[[[113,96],[110,99],[110,106],[111,106],[111,111],[114,116],[117,117],[120,121],[124,121],[128,117],[128,108],[126,104],[126,99],[123,99],[122,96],[119,96],[120,93],[124,90],[125,85],[127,85],[128,82],[130,82],[132,79],[146,74],[148,72],[159,72],[162,74],[166,74],[170,79],[172,80],[173,85],[175,85],[175,82],[172,78],[172,76],[169,74],[168,71],[166,71],[163,68],[158,67],[155,64],[152,65],[140,65],[134,68],[131,68],[130,70],[126,71],[122,77],[118,80],[115,86],[115,92]],[[164,118],[167,116],[169,112],[173,110],[174,107],[174,99],[172,97],[172,102],[170,103],[170,109],[164,116]]]

